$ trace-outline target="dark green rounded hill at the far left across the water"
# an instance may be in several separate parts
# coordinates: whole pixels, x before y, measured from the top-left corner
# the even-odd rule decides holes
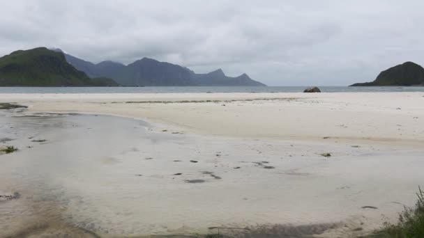
[[[113,79],[91,79],[65,56],[45,47],[18,50],[0,58],[0,86],[119,86]]]

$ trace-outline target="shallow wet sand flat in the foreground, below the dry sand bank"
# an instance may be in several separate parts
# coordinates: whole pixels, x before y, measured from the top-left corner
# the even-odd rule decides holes
[[[388,168],[365,164],[402,157],[395,167],[409,175],[396,182],[411,191],[424,177],[404,166],[417,151],[185,135],[116,116],[3,113],[1,138],[19,150],[0,155],[0,195],[19,196],[0,200],[0,237],[347,232],[402,209],[381,196],[393,190]]]

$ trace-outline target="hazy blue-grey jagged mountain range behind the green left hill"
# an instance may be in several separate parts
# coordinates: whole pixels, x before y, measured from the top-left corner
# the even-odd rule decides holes
[[[129,65],[123,65],[112,61],[94,64],[70,54],[64,55],[71,65],[89,77],[112,78],[123,86],[266,86],[250,79],[247,74],[227,77],[222,70],[196,74],[180,65],[152,58],[142,58]]]

